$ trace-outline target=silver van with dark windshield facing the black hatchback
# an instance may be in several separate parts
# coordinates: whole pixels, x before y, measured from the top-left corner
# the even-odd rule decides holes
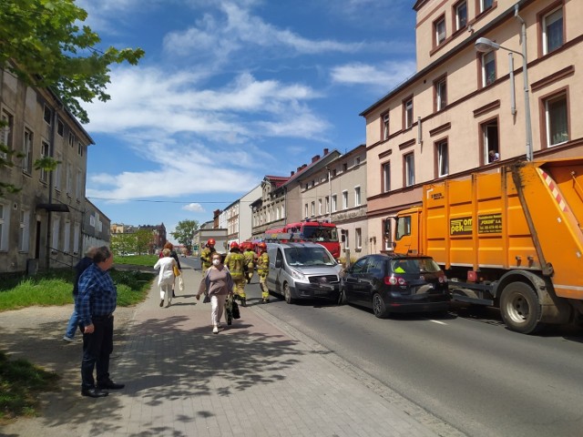
[[[283,296],[286,302],[299,299],[338,301],[340,270],[323,246],[308,243],[267,243],[270,268],[267,288]]]

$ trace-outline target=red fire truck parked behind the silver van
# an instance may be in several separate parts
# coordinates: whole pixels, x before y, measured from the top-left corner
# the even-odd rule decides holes
[[[268,229],[265,231],[264,241],[313,241],[328,249],[335,259],[340,258],[338,229],[336,225],[326,221],[300,221],[288,223],[283,228]]]

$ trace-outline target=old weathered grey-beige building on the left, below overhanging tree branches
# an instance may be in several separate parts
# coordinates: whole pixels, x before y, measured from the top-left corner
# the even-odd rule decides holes
[[[50,90],[27,86],[0,70],[0,152],[12,167],[0,182],[20,188],[0,197],[0,273],[75,265],[86,229],[87,147],[94,141]],[[59,161],[54,171],[36,159]],[[91,208],[93,210],[93,208]]]

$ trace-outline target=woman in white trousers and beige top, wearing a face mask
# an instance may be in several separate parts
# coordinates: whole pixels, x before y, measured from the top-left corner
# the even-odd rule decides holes
[[[220,253],[212,254],[212,266],[206,269],[204,277],[200,281],[199,291],[196,294],[197,300],[200,300],[201,294],[207,294],[210,297],[210,321],[212,323],[213,334],[218,334],[220,328],[220,318],[223,310],[227,307],[229,313],[229,303],[232,302],[233,296],[233,279],[230,271],[221,262]],[[228,321],[229,317],[228,317]]]

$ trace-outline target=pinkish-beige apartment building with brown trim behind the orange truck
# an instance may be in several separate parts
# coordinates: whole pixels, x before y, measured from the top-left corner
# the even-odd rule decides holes
[[[583,2],[418,0],[414,10],[417,72],[361,114],[368,234],[382,249],[384,221],[419,204],[425,183],[498,171],[530,151],[583,152]]]

